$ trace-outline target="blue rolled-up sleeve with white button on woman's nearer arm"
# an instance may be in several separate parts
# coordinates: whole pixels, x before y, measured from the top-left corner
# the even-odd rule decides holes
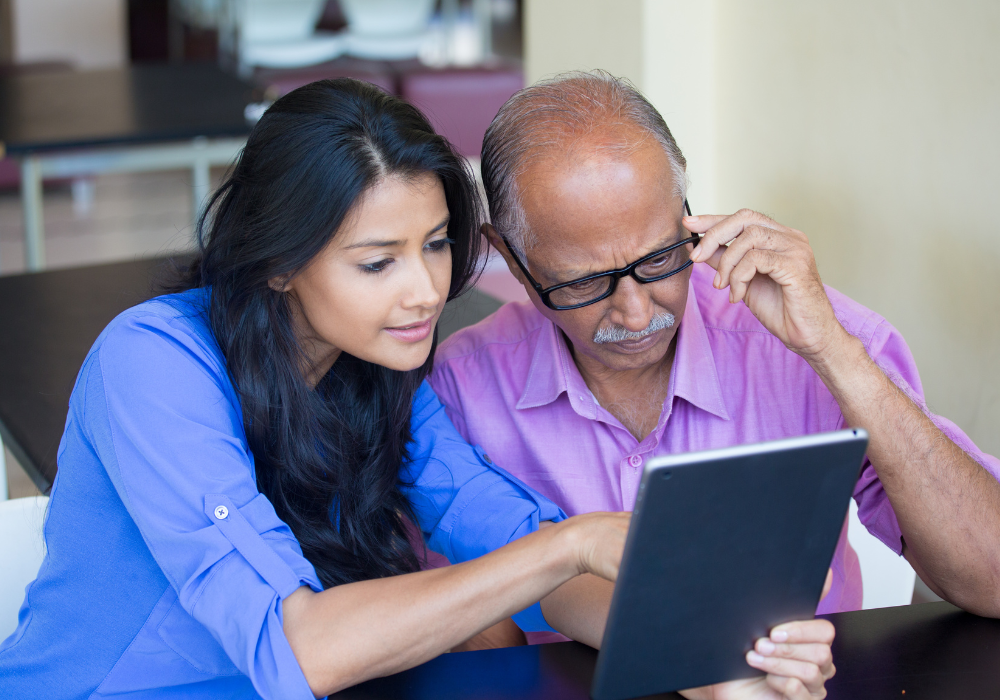
[[[257,490],[220,355],[176,320],[119,318],[87,372],[89,437],[181,606],[262,697],[311,700],[281,601],[322,586]]]

